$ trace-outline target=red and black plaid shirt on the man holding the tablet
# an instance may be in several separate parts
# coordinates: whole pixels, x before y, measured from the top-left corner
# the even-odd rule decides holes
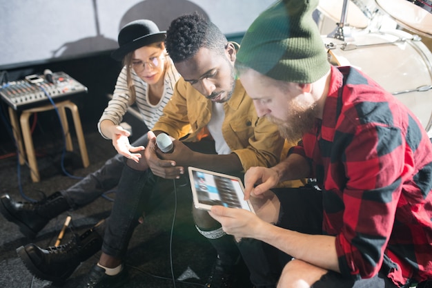
[[[355,68],[332,67],[323,119],[291,153],[322,186],[342,274],[432,279],[432,144],[393,95]]]

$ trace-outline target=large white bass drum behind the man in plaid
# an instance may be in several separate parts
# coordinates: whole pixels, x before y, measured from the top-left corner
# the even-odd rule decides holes
[[[400,99],[431,137],[432,54],[420,37],[391,30],[357,33],[350,42],[329,37],[323,41],[331,64],[364,71]]]

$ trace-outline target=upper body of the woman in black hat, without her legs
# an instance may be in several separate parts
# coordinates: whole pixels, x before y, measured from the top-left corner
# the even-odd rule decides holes
[[[179,75],[166,54],[164,39],[165,32],[159,32],[152,21],[133,21],[121,30],[120,48],[112,53],[114,59],[123,59],[124,68],[117,79],[113,98],[99,120],[99,132],[112,139],[121,155],[136,162],[140,154],[133,153],[128,142],[129,133],[119,123],[128,106],[136,102],[144,122],[149,129],[153,128],[173,95]]]

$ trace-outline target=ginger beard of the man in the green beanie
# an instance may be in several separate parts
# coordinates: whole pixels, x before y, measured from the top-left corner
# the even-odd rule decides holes
[[[292,113],[289,115],[287,121],[282,121],[271,115],[267,115],[266,117],[270,122],[277,125],[282,137],[290,142],[297,142],[303,137],[304,133],[311,131],[315,125],[315,106],[314,104],[304,109],[291,104]]]

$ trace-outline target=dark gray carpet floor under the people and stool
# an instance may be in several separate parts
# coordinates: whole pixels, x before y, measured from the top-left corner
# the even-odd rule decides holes
[[[11,148],[0,144],[5,155],[0,160],[0,193],[9,193],[20,201],[25,201],[25,198],[40,199],[41,192],[50,195],[66,189],[79,181],[75,177],[84,177],[99,169],[109,157],[115,155],[115,150],[109,140],[104,140],[94,131],[94,127],[87,129],[90,132],[84,130],[90,166],[82,168],[74,137],[75,151],[66,153],[63,160],[63,166],[73,177],[65,175],[61,169],[63,144],[58,137],[48,133],[48,136],[43,134],[34,139],[41,173],[41,181],[37,183],[30,179],[27,166],[17,165],[16,156],[6,157]],[[146,216],[132,236],[126,257],[130,281],[124,287],[203,287],[215,262],[215,250],[194,227],[190,215],[191,195],[187,186],[179,186],[173,193],[173,182],[166,181],[163,185],[164,189],[168,187],[170,193],[155,201],[152,213]],[[108,194],[108,197],[115,198],[115,193]],[[106,218],[111,207],[112,201],[98,198],[86,207],[68,211],[51,220],[33,240],[25,238],[15,224],[0,215],[0,287],[77,287],[99,259],[100,252],[81,263],[63,285],[54,285],[34,278],[17,256],[16,249],[29,242],[41,247],[52,246],[64,220],[70,215],[71,229],[66,231],[62,241],[66,243],[73,232],[82,233]],[[241,277],[247,279],[247,272]],[[242,287],[250,287],[247,280]]]

